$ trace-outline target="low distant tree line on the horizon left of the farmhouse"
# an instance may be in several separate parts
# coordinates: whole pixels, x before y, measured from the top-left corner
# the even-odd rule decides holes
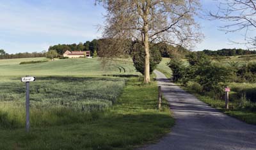
[[[28,58],[28,57],[45,57],[43,52],[19,52],[16,54],[8,54],[3,49],[0,49],[0,59],[15,59],[15,58]]]

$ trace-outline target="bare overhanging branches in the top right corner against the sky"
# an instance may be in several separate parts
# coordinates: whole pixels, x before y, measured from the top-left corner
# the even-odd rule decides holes
[[[226,22],[220,29],[227,33],[244,32],[246,42],[233,41],[256,48],[256,37],[252,31],[256,29],[256,1],[255,0],[218,0],[218,11],[210,12],[212,19]]]

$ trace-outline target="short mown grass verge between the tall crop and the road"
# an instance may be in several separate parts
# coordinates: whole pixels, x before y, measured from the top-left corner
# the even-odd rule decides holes
[[[0,149],[134,149],[170,131],[174,124],[166,101],[157,110],[156,82],[141,86],[131,78],[116,104],[93,113],[85,123],[0,130]]]

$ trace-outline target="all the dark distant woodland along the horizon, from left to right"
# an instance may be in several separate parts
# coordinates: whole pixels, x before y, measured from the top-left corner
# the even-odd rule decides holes
[[[102,51],[104,50],[104,43],[108,42],[107,39],[94,39],[92,41],[72,43],[72,44],[58,44],[52,45],[49,47],[49,50],[56,50],[58,55],[63,55],[67,50],[69,51],[90,51],[91,56],[93,54],[98,54],[102,57]],[[132,53],[132,45],[136,41],[129,41],[131,50],[129,50],[129,55]],[[169,45],[168,43],[151,43],[154,46],[154,49],[159,50],[162,57],[185,57],[189,54],[189,50],[184,47]],[[47,51],[42,52],[19,52],[17,54],[8,54],[3,49],[0,49],[0,59],[15,59],[15,58],[26,58],[26,57],[45,57]],[[256,50],[244,50],[244,49],[221,49],[221,50],[202,50],[196,51],[196,53],[204,53],[207,56],[211,57],[222,57],[222,56],[244,56],[256,54]]]

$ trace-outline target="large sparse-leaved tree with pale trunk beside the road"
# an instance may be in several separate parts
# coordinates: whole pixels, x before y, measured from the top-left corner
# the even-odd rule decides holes
[[[194,16],[198,0],[96,0],[107,10],[104,38],[140,41],[145,50],[144,82],[150,82],[150,43],[166,42],[192,47],[201,33]],[[127,44],[116,46],[116,53]],[[122,48],[118,50],[118,48]],[[113,48],[113,47],[112,47]],[[111,49],[108,49],[108,51]],[[109,53],[109,52],[108,52]]]

